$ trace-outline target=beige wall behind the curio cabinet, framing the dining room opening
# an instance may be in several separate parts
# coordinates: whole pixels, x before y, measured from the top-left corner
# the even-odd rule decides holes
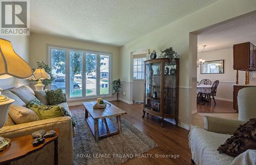
[[[159,53],[159,50],[173,46],[174,50],[181,55],[179,125],[189,126],[191,111],[196,107],[194,96],[196,83],[192,82],[191,78],[197,77],[196,60],[194,59],[196,56],[189,57],[189,33],[254,10],[256,10],[256,1],[254,0],[220,0],[122,46],[120,49],[120,79],[126,82],[132,81],[130,75],[131,52],[154,48]],[[125,100],[132,98],[127,95],[121,97]]]

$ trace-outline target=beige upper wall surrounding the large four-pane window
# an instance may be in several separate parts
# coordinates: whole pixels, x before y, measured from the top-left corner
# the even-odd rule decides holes
[[[47,60],[47,44],[66,46],[73,49],[99,51],[112,54],[112,79],[119,78],[119,48],[110,45],[90,43],[44,34],[30,34],[30,64],[36,67],[37,61]]]

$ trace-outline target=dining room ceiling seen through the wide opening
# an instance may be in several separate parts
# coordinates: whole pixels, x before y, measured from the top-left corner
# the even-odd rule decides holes
[[[221,25],[204,29],[198,34],[198,52],[232,48],[242,42],[256,44],[256,13],[235,18]]]

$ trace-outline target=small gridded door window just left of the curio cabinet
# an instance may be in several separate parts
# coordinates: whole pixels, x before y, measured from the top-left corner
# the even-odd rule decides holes
[[[144,79],[144,61],[143,58],[134,58],[133,59],[133,79],[134,80],[142,80]]]

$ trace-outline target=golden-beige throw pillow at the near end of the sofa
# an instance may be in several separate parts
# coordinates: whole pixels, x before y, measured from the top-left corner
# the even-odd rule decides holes
[[[31,109],[26,107],[11,105],[9,115],[16,124],[28,123],[41,120]]]

